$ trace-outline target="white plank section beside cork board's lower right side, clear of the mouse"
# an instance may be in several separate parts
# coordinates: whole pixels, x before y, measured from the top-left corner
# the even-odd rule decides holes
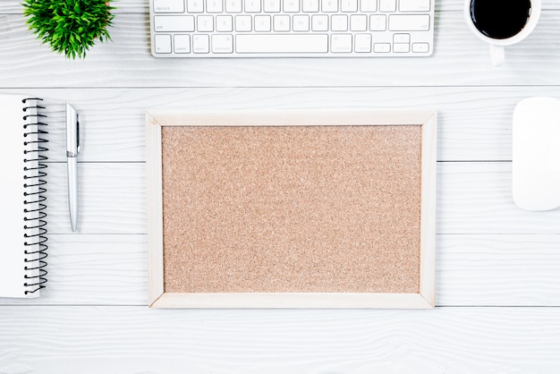
[[[560,306],[560,235],[437,236],[437,305]]]

